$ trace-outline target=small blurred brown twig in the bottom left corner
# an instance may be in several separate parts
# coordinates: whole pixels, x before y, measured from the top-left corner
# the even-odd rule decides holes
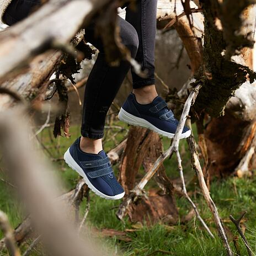
[[[0,228],[5,237],[6,247],[8,248],[11,256],[20,256],[19,249],[15,243],[13,230],[8,221],[8,217],[4,212],[0,211]]]

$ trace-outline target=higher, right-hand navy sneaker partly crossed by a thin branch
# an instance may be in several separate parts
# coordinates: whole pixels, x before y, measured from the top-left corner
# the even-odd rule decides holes
[[[140,104],[133,93],[122,105],[118,118],[130,125],[146,127],[168,138],[174,137],[179,124],[172,110],[168,109],[167,103],[161,97],[157,96],[150,104]],[[190,135],[190,129],[184,127],[180,138],[187,138]]]

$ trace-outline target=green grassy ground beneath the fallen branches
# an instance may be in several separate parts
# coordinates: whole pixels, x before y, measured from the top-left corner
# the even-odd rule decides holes
[[[120,122],[115,125],[123,126]],[[127,126],[125,127],[127,128]],[[111,130],[110,135],[119,130]],[[126,131],[120,131],[115,136],[116,142],[119,142],[124,137]],[[44,143],[51,158],[61,158],[68,146],[79,136],[79,127],[71,127],[71,138],[60,137],[57,140],[52,140],[51,129],[45,129],[39,135],[39,140]],[[109,135],[109,136],[110,136]],[[163,138],[164,148],[168,148],[169,140]],[[115,142],[110,140],[105,143],[105,151],[113,148]],[[211,231],[215,234],[212,239],[202,229],[201,224],[196,218],[193,218],[187,223],[178,222],[175,226],[164,225],[158,223],[157,225],[146,226],[143,223],[131,223],[126,218],[121,222],[116,218],[115,212],[120,201],[108,201],[95,196],[90,193],[90,211],[87,218],[89,227],[95,229],[114,229],[123,231],[122,236],[114,236],[111,238],[100,238],[100,243],[105,241],[107,246],[110,246],[125,256],[149,256],[149,255],[180,255],[180,256],[220,256],[226,255],[222,243],[217,236],[215,223],[212,220],[211,213],[205,204],[202,197],[201,190],[195,178],[194,171],[190,167],[189,152],[187,150],[186,141],[183,140],[180,144],[180,149],[183,157],[184,174],[186,178],[188,191],[191,191],[191,198],[193,198],[196,205],[200,209],[200,214],[209,225]],[[78,174],[71,170],[63,161],[54,161],[57,175],[60,175],[63,180],[65,191],[74,188]],[[164,162],[168,177],[177,180],[179,177],[175,157]],[[118,166],[115,166],[115,171],[118,173]],[[1,170],[1,169],[0,169]],[[0,178],[6,180],[4,172],[0,172]],[[9,221],[13,227],[16,227],[23,220],[22,206],[15,195],[12,193],[12,186],[0,179],[0,209],[9,217]],[[233,237],[238,236],[236,228],[230,221],[228,216],[232,214],[235,218],[239,217],[243,211],[247,211],[245,220],[242,222],[242,227],[245,230],[246,237],[252,247],[253,252],[256,253],[256,177],[237,178],[230,177],[227,179],[215,179],[211,182],[211,196],[216,202],[220,216],[223,223],[227,227],[230,245],[234,255],[248,255],[246,248],[243,245],[242,239],[238,239],[238,252],[234,248]],[[146,189],[154,186],[149,183]],[[63,191],[64,192],[64,191]],[[188,214],[191,207],[184,198],[176,196],[177,206],[179,209],[180,219]],[[81,217],[86,207],[86,202],[82,203]],[[2,234],[0,233],[0,237]],[[30,241],[31,242],[31,241]],[[26,244],[23,246],[24,250]],[[8,255],[7,252],[1,252],[0,255]],[[44,255],[36,248],[31,255]],[[256,255],[253,253],[253,255]]]

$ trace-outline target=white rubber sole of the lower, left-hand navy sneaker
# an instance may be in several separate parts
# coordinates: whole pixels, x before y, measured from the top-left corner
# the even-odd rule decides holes
[[[88,187],[98,196],[100,196],[101,198],[107,199],[107,200],[118,200],[124,197],[125,192],[122,194],[118,194],[115,196],[109,196],[109,195],[105,195],[102,192],[100,192],[97,188],[95,188],[95,186],[93,186],[92,183],[90,183],[90,180],[87,178],[86,174],[83,172],[83,169],[79,166],[79,164],[77,164],[76,161],[74,161],[73,157],[70,154],[70,148],[68,148],[68,150],[66,151],[66,153],[64,154],[64,160],[65,162],[68,164],[68,166],[75,170],[77,173],[79,173],[79,175],[81,175],[86,184],[88,185]]]

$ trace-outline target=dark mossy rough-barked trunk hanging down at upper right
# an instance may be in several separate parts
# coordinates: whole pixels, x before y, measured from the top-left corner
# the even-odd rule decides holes
[[[255,1],[201,2],[205,17],[204,51],[196,79],[203,86],[194,108],[199,116],[204,111],[218,117],[225,113],[234,92],[248,78],[251,83],[256,79],[256,73],[246,66],[242,50],[253,46],[255,9],[251,4]],[[249,16],[244,15],[249,12],[247,8],[251,10]]]

